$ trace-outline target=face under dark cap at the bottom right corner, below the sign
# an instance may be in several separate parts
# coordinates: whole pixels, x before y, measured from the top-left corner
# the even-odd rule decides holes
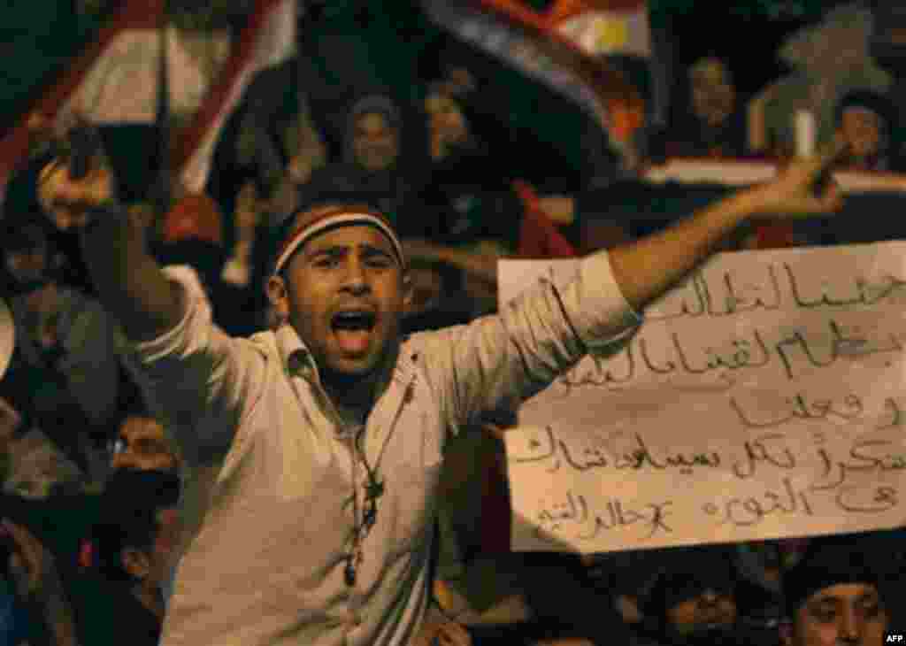
[[[787,646],[881,646],[888,616],[878,590],[841,583],[809,597],[796,612]]]

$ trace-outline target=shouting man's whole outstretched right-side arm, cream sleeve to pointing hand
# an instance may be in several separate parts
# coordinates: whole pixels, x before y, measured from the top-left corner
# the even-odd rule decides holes
[[[572,279],[539,281],[496,316],[421,338],[451,428],[545,389],[587,352],[612,352],[639,313],[677,284],[749,218],[803,217],[840,206],[812,187],[834,159],[800,160],[779,178],[703,208],[666,231],[584,257]]]

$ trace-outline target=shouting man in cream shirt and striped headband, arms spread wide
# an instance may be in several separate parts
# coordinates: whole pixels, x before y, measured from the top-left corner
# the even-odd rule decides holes
[[[76,181],[48,169],[46,198],[89,212],[92,278],[188,468],[161,643],[434,639],[430,563],[448,438],[629,338],[645,304],[747,218],[839,207],[836,192],[811,192],[831,158],[797,161],[665,232],[587,256],[572,280],[536,284],[495,315],[408,338],[406,258],[381,214],[294,214],[267,284],[281,324],[235,338],[197,287],[149,256],[140,226],[110,204],[108,171]]]

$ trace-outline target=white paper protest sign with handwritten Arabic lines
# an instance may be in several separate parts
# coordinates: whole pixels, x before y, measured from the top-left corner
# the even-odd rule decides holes
[[[906,243],[714,256],[506,435],[512,548],[605,552],[902,525]],[[506,303],[573,260],[506,261]]]

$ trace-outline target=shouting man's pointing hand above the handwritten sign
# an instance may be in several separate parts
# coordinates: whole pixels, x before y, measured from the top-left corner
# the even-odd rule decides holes
[[[845,150],[841,142],[808,159],[795,159],[777,178],[754,188],[754,217],[799,218],[833,213],[843,206],[843,195],[833,182],[814,193],[814,184]]]

